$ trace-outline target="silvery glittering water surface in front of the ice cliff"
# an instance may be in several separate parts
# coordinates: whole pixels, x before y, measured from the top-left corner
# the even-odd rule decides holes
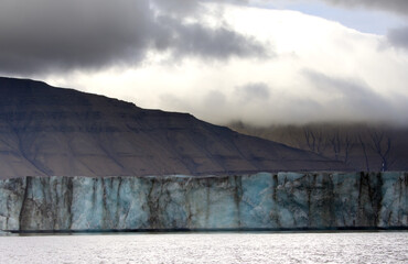
[[[408,263],[408,232],[0,237],[0,263]]]

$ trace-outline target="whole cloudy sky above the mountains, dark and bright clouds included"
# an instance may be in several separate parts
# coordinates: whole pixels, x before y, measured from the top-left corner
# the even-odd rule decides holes
[[[0,0],[0,75],[253,125],[408,125],[406,0]]]

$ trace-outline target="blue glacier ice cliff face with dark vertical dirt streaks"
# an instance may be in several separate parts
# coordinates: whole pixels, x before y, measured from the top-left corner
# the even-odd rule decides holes
[[[407,229],[407,173],[14,178],[0,229]]]

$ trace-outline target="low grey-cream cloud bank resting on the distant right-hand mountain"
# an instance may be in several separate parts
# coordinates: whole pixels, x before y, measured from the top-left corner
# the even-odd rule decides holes
[[[241,121],[251,125],[304,124],[310,122],[387,122],[406,125],[408,98],[380,95],[358,78],[334,77],[303,69],[309,95],[281,87],[249,82],[233,90],[202,90],[200,95],[167,95],[161,106],[186,111],[218,124]],[[299,87],[293,87],[299,89]]]

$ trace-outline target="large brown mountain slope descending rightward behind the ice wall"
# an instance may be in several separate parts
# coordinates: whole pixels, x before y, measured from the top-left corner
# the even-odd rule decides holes
[[[0,177],[344,170],[342,162],[191,114],[0,78]]]

